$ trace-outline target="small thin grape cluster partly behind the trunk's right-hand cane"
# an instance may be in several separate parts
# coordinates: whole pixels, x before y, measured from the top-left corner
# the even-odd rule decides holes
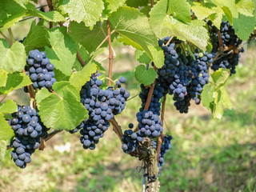
[[[162,139],[162,146],[161,146],[161,151],[159,154],[159,160],[158,160],[158,167],[159,167],[159,174],[160,174],[160,170],[162,170],[162,166],[164,164],[164,157],[165,154],[167,153],[168,150],[170,150],[171,148],[171,144],[170,144],[170,140],[172,139],[172,137],[170,135],[166,135],[163,139]],[[155,150],[157,150],[158,147],[158,143],[157,142],[152,142],[153,143],[153,147]]]

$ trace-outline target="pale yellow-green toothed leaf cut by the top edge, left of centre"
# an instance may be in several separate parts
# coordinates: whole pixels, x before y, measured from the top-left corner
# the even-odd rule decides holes
[[[86,26],[94,26],[104,8],[102,0],[63,0],[60,4],[59,8],[69,14],[70,21],[84,22]]]

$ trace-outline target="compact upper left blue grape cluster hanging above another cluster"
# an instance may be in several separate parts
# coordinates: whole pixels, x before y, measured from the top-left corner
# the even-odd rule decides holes
[[[56,79],[54,78],[54,64],[46,58],[46,52],[30,50],[26,58],[26,74],[30,75],[34,89],[51,89]]]

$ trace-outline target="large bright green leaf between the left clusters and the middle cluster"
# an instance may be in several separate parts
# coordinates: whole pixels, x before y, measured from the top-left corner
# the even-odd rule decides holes
[[[54,130],[74,130],[82,120],[88,117],[86,108],[80,102],[79,92],[69,82],[55,82],[53,90],[56,94],[38,92],[39,115],[46,127]],[[57,95],[58,94],[58,95]]]

